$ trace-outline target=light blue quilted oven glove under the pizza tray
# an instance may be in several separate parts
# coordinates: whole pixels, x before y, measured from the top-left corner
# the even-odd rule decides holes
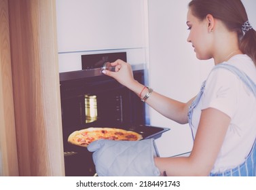
[[[98,176],[159,176],[153,157],[159,156],[151,139],[96,140],[88,145]]]

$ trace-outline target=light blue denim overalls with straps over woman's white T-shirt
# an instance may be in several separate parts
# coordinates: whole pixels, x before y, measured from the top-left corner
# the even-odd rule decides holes
[[[230,65],[230,64],[217,64],[214,69],[228,69],[229,71],[232,71],[232,73],[238,75],[238,77],[248,86],[248,88],[253,92],[256,98],[256,84],[243,72],[241,72],[239,69],[236,67]],[[200,92],[198,96],[196,96],[196,99],[192,102],[191,106],[189,107],[189,126],[192,128],[192,122],[191,118],[193,115],[193,110],[194,108],[197,107],[198,102],[200,101],[200,98],[202,97],[202,94],[204,92],[204,87],[205,87],[206,81],[202,83],[202,87],[200,89]],[[256,127],[256,123],[255,123]],[[192,135],[193,132],[192,132]],[[193,136],[194,138],[194,136]],[[236,168],[226,170],[225,172],[221,173],[211,173],[210,176],[256,176],[256,139],[255,142],[253,143],[253,147],[249,153],[249,155],[246,157],[244,163],[240,164]]]

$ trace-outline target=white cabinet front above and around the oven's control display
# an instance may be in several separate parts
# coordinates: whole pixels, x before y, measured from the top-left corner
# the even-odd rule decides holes
[[[61,72],[81,70],[81,55],[127,52],[128,62],[145,64],[146,0],[56,0]]]

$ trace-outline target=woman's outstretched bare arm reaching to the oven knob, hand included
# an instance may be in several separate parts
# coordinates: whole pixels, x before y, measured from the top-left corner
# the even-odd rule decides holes
[[[106,70],[103,73],[113,77],[118,82],[122,83],[122,85],[136,93],[138,96],[141,95],[140,98],[145,96],[147,93],[147,88],[144,88],[145,86],[143,86],[143,84],[139,83],[133,78],[130,64],[122,60],[116,60],[115,62],[112,62],[111,65],[115,67],[115,72]],[[151,96],[147,99],[146,102],[150,107],[165,117],[177,121],[178,123],[187,123],[187,112],[193,99],[194,98],[189,100],[189,102],[184,103],[158,94],[157,92],[152,92]]]

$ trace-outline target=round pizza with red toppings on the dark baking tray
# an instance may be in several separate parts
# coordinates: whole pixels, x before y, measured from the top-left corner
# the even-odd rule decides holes
[[[86,128],[71,133],[68,142],[73,145],[87,147],[91,142],[99,139],[135,141],[142,138],[143,136],[137,132],[117,128]]]

